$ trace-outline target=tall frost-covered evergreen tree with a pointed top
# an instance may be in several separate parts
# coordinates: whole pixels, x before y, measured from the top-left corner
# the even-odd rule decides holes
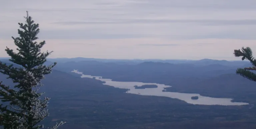
[[[5,51],[11,57],[10,61],[21,67],[6,65],[0,61],[0,72],[8,75],[16,85],[13,88],[0,83],[0,126],[4,129],[40,129],[40,122],[49,115],[46,107],[50,98],[40,99],[43,93],[38,93],[38,87],[45,74],[49,74],[56,62],[52,65],[43,65],[46,57],[52,52],[41,53],[45,41],[37,43],[39,24],[35,24],[28,15],[24,17],[26,23],[18,23],[19,37],[13,38],[18,47],[17,52],[6,47]],[[65,122],[57,123],[51,129],[56,129]]]

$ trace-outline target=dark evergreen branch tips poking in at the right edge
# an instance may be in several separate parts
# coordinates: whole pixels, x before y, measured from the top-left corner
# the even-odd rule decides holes
[[[254,59],[252,55],[252,50],[250,47],[242,47],[242,51],[240,49],[234,50],[234,55],[235,57],[240,57],[242,56],[242,60],[247,59],[251,62],[252,67],[248,68],[238,68],[236,70],[236,73],[248,78],[249,80],[256,81],[256,74],[251,72],[250,70],[256,70],[256,59]]]

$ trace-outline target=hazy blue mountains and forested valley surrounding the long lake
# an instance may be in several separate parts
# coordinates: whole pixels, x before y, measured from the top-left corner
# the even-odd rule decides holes
[[[11,63],[8,59],[2,62]],[[254,82],[235,74],[237,68],[251,66],[247,61],[226,60],[111,60],[90,58],[48,59],[58,62],[46,75],[39,91],[51,98],[49,124],[67,121],[61,129],[251,129],[256,127],[256,87]],[[18,66],[16,66],[18,67]],[[215,98],[247,102],[242,106],[193,105],[169,97],[125,93],[128,89],[103,85],[81,78],[102,76],[121,82],[147,82],[170,85],[165,92],[197,93]],[[12,84],[0,75],[4,84]]]

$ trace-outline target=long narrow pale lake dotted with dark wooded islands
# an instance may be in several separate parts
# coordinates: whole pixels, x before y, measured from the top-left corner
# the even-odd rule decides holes
[[[170,98],[176,98],[183,100],[190,104],[200,104],[200,105],[248,105],[248,103],[243,102],[231,102],[232,99],[230,98],[212,98],[201,96],[200,94],[187,94],[187,93],[178,93],[178,92],[163,92],[164,88],[171,87],[164,84],[157,84],[157,83],[143,83],[143,82],[118,82],[112,81],[112,79],[102,79],[100,76],[91,76],[91,75],[84,75],[82,72],[78,70],[71,71],[77,74],[81,74],[82,78],[93,78],[97,80],[104,81],[104,85],[113,86],[116,88],[123,88],[123,89],[130,89],[126,93],[131,94],[139,94],[139,95],[151,95],[151,96],[165,96]],[[157,88],[146,88],[146,89],[135,89],[135,85],[142,86],[142,85],[157,85]],[[192,100],[192,96],[198,96],[197,100]]]

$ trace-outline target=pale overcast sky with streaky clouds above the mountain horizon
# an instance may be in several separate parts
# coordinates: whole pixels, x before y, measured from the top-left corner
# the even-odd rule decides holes
[[[2,0],[0,57],[26,11],[50,58],[241,60],[256,52],[256,0]],[[256,55],[255,55],[256,56]]]

